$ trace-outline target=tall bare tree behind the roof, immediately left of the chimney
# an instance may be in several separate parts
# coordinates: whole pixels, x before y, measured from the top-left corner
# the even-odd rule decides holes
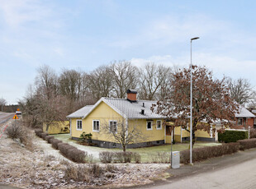
[[[138,83],[138,68],[130,62],[114,62],[110,66],[111,75],[114,79],[113,91],[117,98],[126,98],[127,89],[135,89]]]

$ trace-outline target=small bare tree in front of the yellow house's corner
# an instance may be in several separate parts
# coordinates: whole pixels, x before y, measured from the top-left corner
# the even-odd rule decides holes
[[[116,122],[103,123],[101,132],[114,139],[116,143],[121,144],[122,150],[126,151],[128,145],[146,140],[147,136],[139,127],[140,124],[126,122],[125,118],[120,118]]]

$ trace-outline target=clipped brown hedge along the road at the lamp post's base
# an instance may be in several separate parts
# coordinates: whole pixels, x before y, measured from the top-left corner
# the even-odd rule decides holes
[[[214,158],[222,156],[224,154],[233,154],[239,150],[239,143],[233,142],[228,144],[207,146],[203,148],[193,149],[192,159],[193,161],[200,161],[203,159]],[[182,164],[189,164],[190,151],[183,150],[180,152],[180,162]]]

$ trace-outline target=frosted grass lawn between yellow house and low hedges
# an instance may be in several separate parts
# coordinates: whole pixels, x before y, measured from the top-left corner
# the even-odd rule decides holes
[[[88,152],[88,154],[92,154],[93,159],[96,162],[99,162],[98,153],[100,153],[101,151],[121,151],[121,149],[106,149],[106,148],[100,148],[100,147],[94,147],[94,146],[88,146],[88,145],[79,145],[77,141],[69,139],[69,134],[59,134],[54,136],[56,139],[67,142],[70,145],[75,145],[79,150],[85,150]],[[220,145],[220,144],[215,142],[197,141],[197,143],[194,145],[194,148],[201,148],[204,146],[212,146],[212,145]],[[175,145],[173,145],[173,151],[187,150],[188,146],[189,146],[189,143],[176,143]],[[150,162],[151,156],[154,154],[157,154],[158,152],[171,152],[171,145],[157,145],[157,146],[144,147],[144,148],[127,149],[127,151],[139,153],[141,155],[141,162],[147,163],[147,162]]]

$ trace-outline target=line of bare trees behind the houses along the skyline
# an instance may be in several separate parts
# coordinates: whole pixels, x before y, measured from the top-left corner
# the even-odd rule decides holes
[[[125,99],[127,89],[138,91],[138,99],[158,100],[171,93],[173,67],[153,62],[136,67],[127,61],[113,62],[86,72],[63,69],[59,74],[49,66],[41,66],[33,85],[19,102],[21,111],[31,127],[45,122],[65,120],[69,113],[88,104],[95,104],[102,97]],[[239,104],[255,107],[254,90],[245,79],[226,79],[230,95]]]

